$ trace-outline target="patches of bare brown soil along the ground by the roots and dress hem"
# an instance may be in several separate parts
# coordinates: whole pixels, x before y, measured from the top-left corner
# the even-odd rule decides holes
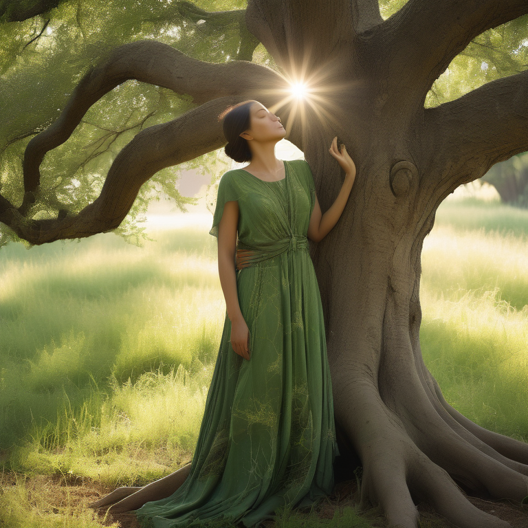
[[[23,476],[19,476],[24,478]],[[16,485],[16,478],[13,473],[4,473],[1,487]],[[25,478],[25,487],[31,490],[38,490],[40,493],[45,490],[47,502],[56,505],[54,512],[57,513],[60,507],[69,504],[70,509],[84,509],[88,503],[94,502],[98,498],[113,491],[89,478],[65,477],[65,476],[28,476]],[[1,495],[1,489],[0,489]],[[521,507],[508,500],[484,500],[482,498],[468,497],[469,500],[479,509],[500,519],[509,522],[512,528],[528,528],[528,506]],[[352,507],[358,501],[358,487],[355,481],[341,481],[336,483],[334,492],[327,500],[321,501],[314,510],[318,517],[331,519],[336,511],[343,507]],[[421,516],[421,525],[430,528],[454,528],[450,522],[434,513],[433,509],[426,504],[419,504],[418,510]],[[102,525],[109,526],[118,522],[120,528],[141,528],[137,518],[133,513],[109,514],[104,520],[105,509],[98,511]],[[308,516],[309,510],[300,511]],[[384,518],[377,510],[370,510],[364,513],[367,520],[374,526],[383,528],[386,526]],[[270,520],[264,523],[266,528],[273,528],[275,522]],[[240,525],[241,526],[241,525]]]

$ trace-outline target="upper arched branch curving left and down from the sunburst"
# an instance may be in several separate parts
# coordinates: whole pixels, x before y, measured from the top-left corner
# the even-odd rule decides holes
[[[188,94],[195,102],[222,96],[253,94],[280,89],[284,81],[272,69],[243,61],[204,63],[157,41],[119,46],[106,63],[91,69],[80,81],[56,122],[28,144],[24,158],[25,197],[19,211],[25,214],[31,194],[40,182],[39,167],[45,154],[63,144],[89,107],[111,89],[129,79]]]

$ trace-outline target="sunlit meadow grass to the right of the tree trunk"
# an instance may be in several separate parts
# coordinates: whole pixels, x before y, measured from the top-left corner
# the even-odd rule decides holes
[[[455,225],[435,226],[423,243],[423,360],[456,410],[526,441],[527,238]]]

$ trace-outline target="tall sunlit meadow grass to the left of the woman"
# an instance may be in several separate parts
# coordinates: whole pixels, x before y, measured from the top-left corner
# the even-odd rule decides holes
[[[103,444],[121,448],[141,439],[192,450],[225,315],[214,241],[209,234],[163,232],[158,246],[142,249],[113,235],[98,237],[99,243],[32,248],[25,260],[20,247],[3,250],[0,447],[16,446],[13,469],[52,471],[50,453],[59,449],[77,450],[80,460],[80,440],[92,441],[93,430],[106,431]],[[160,436],[159,427],[144,421],[152,412],[142,419],[136,412],[129,434],[105,429],[116,408],[139,408],[154,375],[157,403],[164,387],[174,392],[165,404],[177,414],[166,418],[181,435],[172,423]],[[191,389],[195,400],[188,399]],[[125,393],[137,405],[125,406]],[[162,422],[166,410],[150,405]]]

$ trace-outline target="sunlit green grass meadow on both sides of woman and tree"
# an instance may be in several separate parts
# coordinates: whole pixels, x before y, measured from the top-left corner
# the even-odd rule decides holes
[[[149,235],[0,250],[0,526],[103,526],[25,476],[144,485],[192,458],[225,316],[216,239]],[[421,280],[423,357],[446,399],[525,441],[527,242],[528,210],[446,201]],[[351,509],[332,523],[370,526]]]

